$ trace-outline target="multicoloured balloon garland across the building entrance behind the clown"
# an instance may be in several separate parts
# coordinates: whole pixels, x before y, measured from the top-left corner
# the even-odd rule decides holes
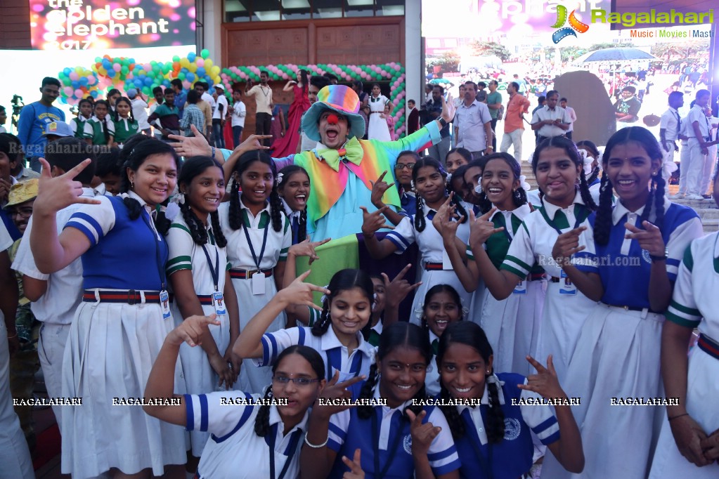
[[[58,74],[63,88],[60,88],[60,101],[75,105],[82,98],[91,96],[98,98],[109,88],[127,91],[130,88],[142,90],[152,98],[152,89],[157,86],[168,88],[170,81],[179,78],[183,87],[188,89],[198,81],[210,85],[225,85],[225,94],[231,96],[234,83],[244,83],[249,79],[260,80],[260,71],[266,71],[270,80],[290,80],[296,78],[298,70],[307,70],[310,75],[331,73],[341,82],[354,80],[389,81],[390,100],[394,105],[392,116],[395,118],[395,131],[404,136],[405,122],[405,69],[396,62],[382,65],[249,65],[220,68],[209,57],[208,50],[200,55],[191,52],[186,57],[175,55],[171,62],[148,63],[135,62],[134,58],[96,57],[95,63],[88,70],[83,67],[64,68]],[[212,91],[212,89],[211,89]]]

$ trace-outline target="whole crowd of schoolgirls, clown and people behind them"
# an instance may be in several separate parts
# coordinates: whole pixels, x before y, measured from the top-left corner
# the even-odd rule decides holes
[[[529,121],[518,83],[504,103],[467,82],[392,141],[379,85],[301,73],[278,157],[261,78],[234,149],[206,116],[180,128],[171,89],[160,138],[131,131],[138,92],[83,103],[92,131],[58,114],[42,151],[0,134],[0,478],[33,477],[37,368],[73,478],[716,477],[719,233],[663,175],[680,121],[708,154],[699,113],[600,153],[557,91]],[[380,274],[326,264],[348,237]]]

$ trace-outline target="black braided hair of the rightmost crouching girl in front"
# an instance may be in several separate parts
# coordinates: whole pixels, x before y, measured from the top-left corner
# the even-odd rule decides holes
[[[444,330],[444,334],[439,338],[439,350],[437,351],[437,366],[439,366],[440,369],[439,382],[441,384],[440,397],[442,399],[451,398],[449,390],[446,389],[442,381],[441,369],[444,355],[452,343],[468,345],[475,349],[482,357],[486,366],[489,366],[490,358],[493,355],[492,346],[489,340],[487,340],[487,335],[485,335],[482,328],[475,322],[459,321],[447,326],[446,330]],[[489,375],[485,376],[485,378],[488,376]],[[485,421],[487,440],[492,444],[497,444],[504,438],[504,411],[502,411],[499,403],[499,387],[497,383],[493,381],[485,381],[485,387],[490,396],[490,404]],[[452,436],[455,439],[462,437],[466,432],[466,428],[462,417],[459,416],[457,406],[439,406],[439,409],[444,412],[444,417],[446,417],[449,423],[449,429],[452,430]]]

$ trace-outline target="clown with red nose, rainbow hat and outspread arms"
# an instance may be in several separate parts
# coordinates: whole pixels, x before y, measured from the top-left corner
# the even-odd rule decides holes
[[[370,213],[372,183],[383,172],[394,173],[400,152],[417,152],[427,144],[439,143],[439,130],[454,116],[452,101],[442,101],[442,113],[422,129],[398,141],[361,140],[365,119],[359,114],[359,97],[345,85],[329,85],[317,94],[317,101],[305,113],[302,128],[308,138],[318,141],[317,147],[283,159],[275,159],[278,169],[298,164],[310,177],[307,204],[307,233],[317,241],[340,238],[362,231],[362,210]],[[251,136],[235,152],[211,149],[201,135],[175,137],[179,154],[215,154],[216,159],[234,162],[247,149],[260,148],[261,136]],[[222,156],[220,156],[222,154]],[[232,169],[230,166],[229,169]],[[227,168],[225,169],[227,171]],[[383,196],[383,203],[400,208],[395,188]]]

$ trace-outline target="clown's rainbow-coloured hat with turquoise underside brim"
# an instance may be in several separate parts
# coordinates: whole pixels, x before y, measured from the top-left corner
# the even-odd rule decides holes
[[[365,118],[359,112],[359,97],[346,85],[328,85],[317,93],[317,101],[302,117],[302,129],[311,140],[321,141],[319,136],[319,117],[326,110],[347,116],[349,132],[347,139],[365,136]]]

